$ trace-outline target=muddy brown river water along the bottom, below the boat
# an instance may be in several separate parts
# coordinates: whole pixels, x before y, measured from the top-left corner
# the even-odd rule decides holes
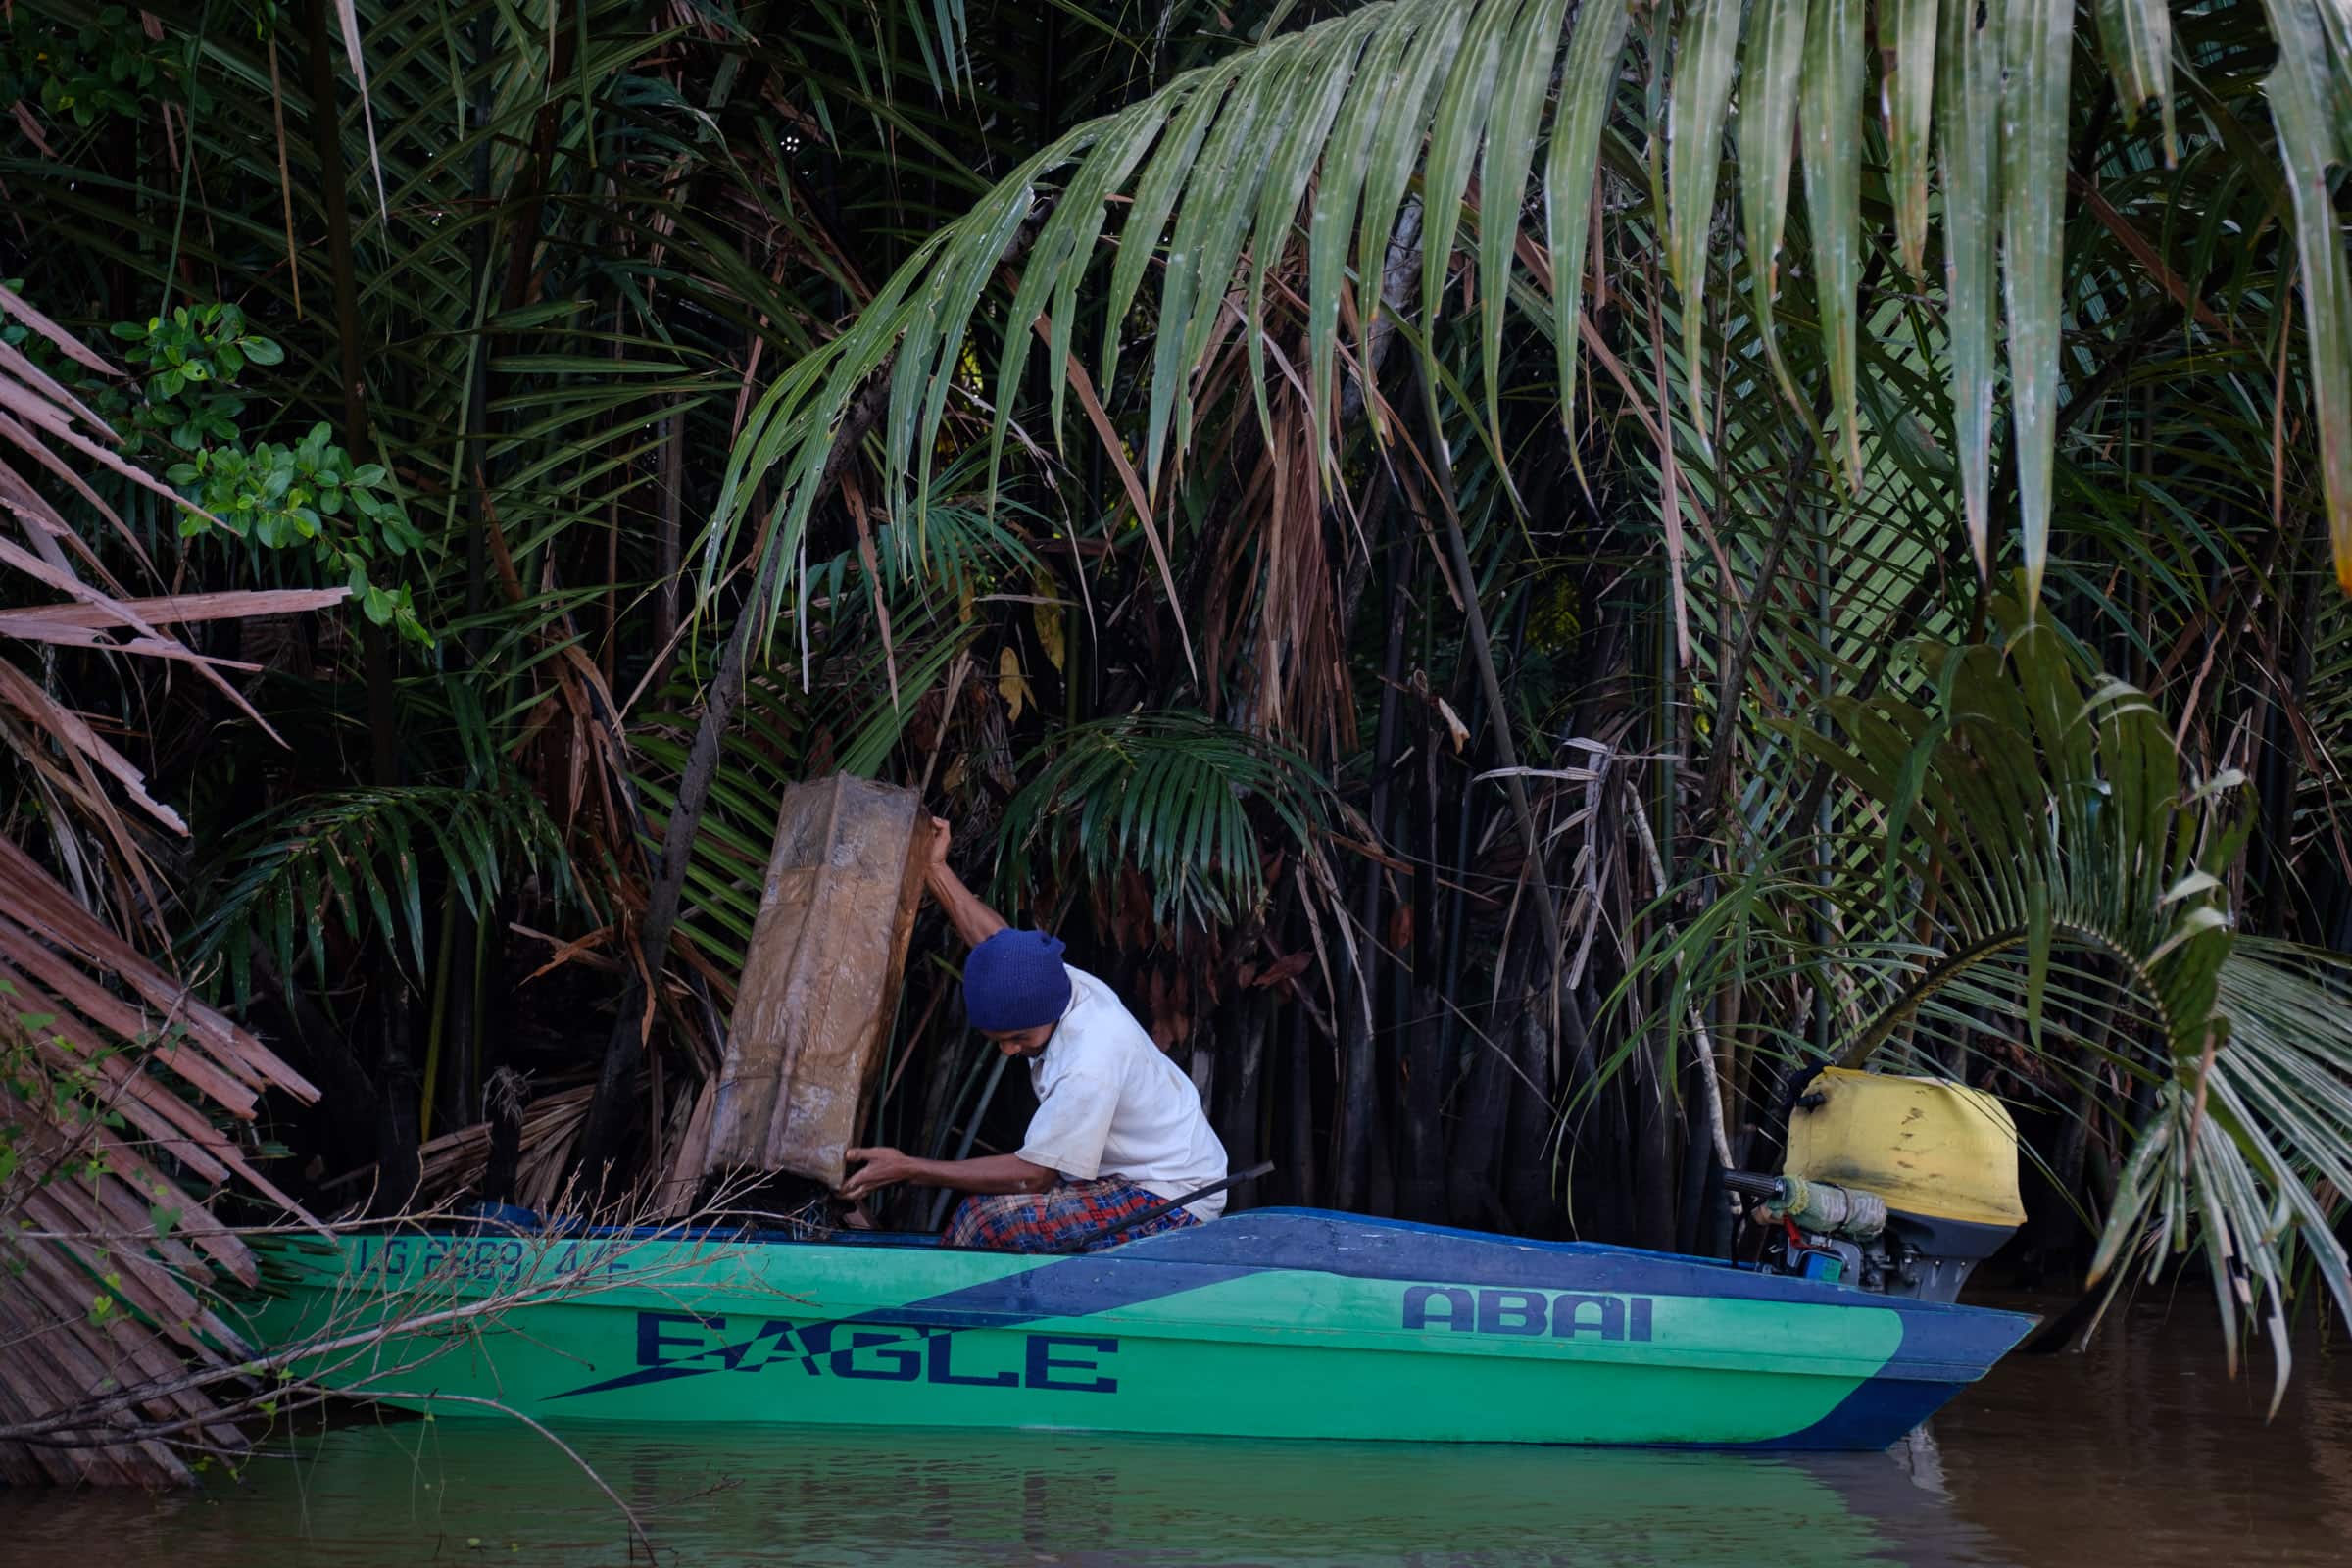
[[[2027,1305],[2027,1302],[1999,1302]],[[1884,1455],[1044,1432],[562,1432],[659,1561],[1209,1568],[2352,1563],[2352,1349],[2230,1380],[2204,1302],[2013,1356]],[[195,1493],[5,1495],[0,1563],[626,1563],[621,1509],[513,1425],[310,1434]],[[635,1561],[644,1561],[642,1549]]]

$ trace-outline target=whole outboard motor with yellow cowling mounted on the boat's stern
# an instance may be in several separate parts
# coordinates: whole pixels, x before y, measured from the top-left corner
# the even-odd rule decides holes
[[[1943,1079],[1823,1067],[1788,1119],[1780,1175],[1726,1171],[1776,1225],[1766,1267],[1947,1302],[2018,1225],[2018,1126]]]

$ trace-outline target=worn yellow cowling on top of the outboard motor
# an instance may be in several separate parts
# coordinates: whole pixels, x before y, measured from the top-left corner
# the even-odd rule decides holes
[[[1940,1079],[1823,1067],[1788,1119],[1788,1175],[1875,1192],[1938,1232],[2025,1222],[2016,1121]]]

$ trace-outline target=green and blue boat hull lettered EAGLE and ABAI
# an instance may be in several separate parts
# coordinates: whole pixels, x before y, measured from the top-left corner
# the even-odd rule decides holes
[[[1884,1448],[2032,1326],[1606,1246],[1254,1211],[1082,1258],[367,1237],[254,1338],[442,1415]],[[550,1300],[553,1295],[553,1300]],[[400,1324],[381,1345],[346,1345]]]

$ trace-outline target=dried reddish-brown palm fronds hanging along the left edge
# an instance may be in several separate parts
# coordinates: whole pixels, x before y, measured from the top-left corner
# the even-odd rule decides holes
[[[64,355],[113,374],[71,334],[0,287],[0,313],[26,322]],[[0,343],[0,440],[64,477],[118,529],[122,520],[80,477],[73,458],[162,489],[108,449],[113,433],[19,350]],[[169,491],[165,491],[169,494]],[[214,668],[169,632],[172,623],[287,609],[318,609],[348,590],[228,592],[191,599],[129,599],[99,569],[85,581],[61,545],[96,567],[33,484],[0,463],[0,505],[33,543],[0,538],[0,564],[66,595],[56,604],[0,614],[7,639],[167,658],[195,668],[245,712],[252,708]],[[127,534],[127,531],[125,531]],[[40,682],[0,658],[0,724],[19,762],[40,780],[59,816],[113,846],[136,886],[141,922],[160,933],[160,898],[146,853],[115,806],[120,792],[148,820],[186,835],[186,823],[146,792],[146,778],[89,722]],[[254,715],[259,719],[259,715]],[[108,790],[108,783],[113,790]],[[54,827],[71,835],[64,820]],[[205,1286],[226,1272],[254,1279],[254,1260],[212,1215],[205,1192],[228,1178],[303,1215],[252,1161],[252,1140],[214,1117],[252,1124],[268,1091],[318,1098],[299,1072],[249,1032],[207,1006],[89,912],[31,853],[0,837],[0,1425],[38,1422],[108,1387],[155,1380],[176,1361],[221,1366],[240,1356],[233,1328],[207,1305]],[[26,1229],[54,1239],[26,1239]],[[186,1418],[214,1446],[235,1446],[235,1427],[207,1418],[209,1396],[158,1394],[139,1418]],[[101,1425],[103,1429],[103,1425]],[[153,1439],[92,1441],[73,1448],[0,1443],[7,1481],[186,1479],[179,1455]]]

